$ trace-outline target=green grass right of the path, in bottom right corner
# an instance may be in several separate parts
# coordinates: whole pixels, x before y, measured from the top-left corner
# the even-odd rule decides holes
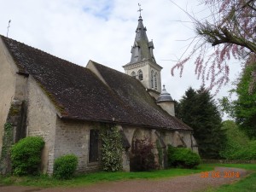
[[[256,191],[256,165],[254,164],[220,164],[216,166],[236,167],[253,171],[248,177],[242,178],[233,184],[224,184],[216,189],[208,189],[207,192],[253,192]]]

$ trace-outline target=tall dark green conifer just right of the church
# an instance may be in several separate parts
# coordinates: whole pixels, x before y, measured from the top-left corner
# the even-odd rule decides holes
[[[218,159],[224,148],[225,132],[221,117],[210,92],[204,87],[195,91],[191,87],[180,101],[182,120],[194,129],[194,137],[203,158]]]

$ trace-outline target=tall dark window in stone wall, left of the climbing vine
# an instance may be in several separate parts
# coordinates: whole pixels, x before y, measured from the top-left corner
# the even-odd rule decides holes
[[[96,162],[99,158],[99,131],[90,130],[89,162]]]

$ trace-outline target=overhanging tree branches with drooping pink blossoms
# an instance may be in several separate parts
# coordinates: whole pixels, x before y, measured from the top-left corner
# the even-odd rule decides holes
[[[201,21],[189,15],[195,23],[196,37],[192,51],[172,67],[183,73],[184,65],[195,55],[195,74],[198,79],[210,81],[209,88],[229,82],[231,56],[246,59],[256,54],[256,3],[254,0],[203,0],[212,17]],[[173,2],[172,2],[173,3]],[[211,18],[208,19],[208,18]],[[256,71],[252,73],[256,79]]]

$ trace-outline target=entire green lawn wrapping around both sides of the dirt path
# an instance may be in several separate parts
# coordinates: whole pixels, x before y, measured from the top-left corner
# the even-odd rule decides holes
[[[256,191],[256,165],[252,164],[201,164],[196,169],[177,169],[159,170],[154,172],[96,172],[83,174],[74,177],[71,180],[57,180],[48,176],[37,177],[0,177],[0,185],[26,185],[38,187],[77,187],[90,185],[99,182],[119,181],[128,179],[158,179],[165,177],[184,176],[199,172],[207,172],[214,169],[215,166],[237,167],[254,171],[250,176],[241,179],[241,181],[224,185],[218,189],[208,189],[207,192],[241,192]]]

